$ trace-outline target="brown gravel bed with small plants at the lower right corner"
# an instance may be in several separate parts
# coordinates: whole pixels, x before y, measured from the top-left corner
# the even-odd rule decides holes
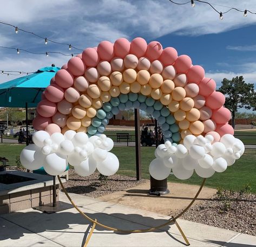
[[[232,198],[235,199],[237,193]],[[256,236],[256,195],[245,194],[241,201],[231,202],[231,209],[223,211],[224,203],[213,196],[209,200],[194,205],[182,218],[213,227],[224,228]]]

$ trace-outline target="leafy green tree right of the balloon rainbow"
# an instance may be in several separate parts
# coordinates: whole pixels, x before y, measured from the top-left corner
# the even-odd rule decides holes
[[[222,80],[222,86],[219,92],[225,94],[225,107],[232,113],[232,127],[235,127],[235,113],[238,109],[255,109],[256,108],[256,93],[254,92],[254,85],[245,83],[242,76],[228,80]]]

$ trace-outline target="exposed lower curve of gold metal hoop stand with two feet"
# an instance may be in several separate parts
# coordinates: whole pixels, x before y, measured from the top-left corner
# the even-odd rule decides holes
[[[92,219],[90,218],[88,215],[86,215],[84,212],[82,212],[82,210],[80,208],[77,207],[76,203],[72,201],[71,197],[69,196],[67,190],[65,190],[65,187],[63,186],[63,183],[61,181],[61,178],[60,176],[58,176],[58,181],[60,182],[60,185],[65,193],[65,195],[68,197],[68,200],[70,201],[70,203],[73,205],[73,207],[84,217],[86,218],[88,221],[90,221],[91,223],[93,223],[92,227],[91,227],[91,230],[90,230],[90,234],[88,235],[87,239],[86,239],[86,242],[84,243],[84,246],[87,246],[89,241],[90,241],[90,238],[91,238],[91,235],[93,235],[93,231],[96,227],[96,225],[99,225],[100,227],[103,227],[107,230],[110,230],[110,231],[114,231],[114,232],[122,232],[122,233],[129,233],[129,234],[132,234],[132,233],[139,233],[139,232],[152,232],[152,231],[155,231],[157,229],[161,229],[163,227],[165,227],[166,225],[170,225],[172,223],[175,223],[176,227],[178,228],[178,230],[180,231],[180,234],[182,235],[183,239],[185,240],[186,244],[187,245],[190,245],[190,243],[188,242],[188,239],[187,237],[185,236],[185,234],[183,233],[182,229],[180,228],[180,225],[178,224],[178,222],[176,221],[179,217],[181,217],[183,214],[185,214],[185,212],[191,208],[191,206],[193,205],[193,203],[195,202],[196,198],[198,198],[202,188],[204,187],[204,184],[205,184],[205,181],[206,179],[202,180],[202,183],[201,183],[201,186],[198,190],[198,192],[196,193],[195,197],[193,198],[193,200],[191,201],[191,203],[188,204],[188,206],[183,209],[178,215],[176,216],[172,216],[171,218],[167,219],[166,223],[164,224],[161,224],[161,225],[157,225],[156,227],[152,227],[152,228],[148,228],[148,229],[134,229],[134,230],[125,230],[125,229],[119,229],[119,228],[113,228],[113,227],[110,227],[108,225],[104,225],[100,222],[97,221],[97,219]]]

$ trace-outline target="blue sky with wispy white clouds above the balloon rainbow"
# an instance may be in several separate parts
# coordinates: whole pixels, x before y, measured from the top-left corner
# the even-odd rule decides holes
[[[176,2],[186,2],[176,0]],[[209,0],[213,4],[256,11],[255,0]],[[224,6],[214,5],[219,11]],[[1,1],[0,20],[58,42],[84,49],[102,40],[114,42],[125,37],[158,40],[188,54],[193,64],[202,65],[206,76],[220,85],[223,78],[243,75],[256,85],[256,15],[229,11],[224,19],[208,5],[196,2],[174,5],[168,0],[88,0],[88,1]],[[33,52],[69,51],[68,46],[49,43],[0,24],[0,46]],[[33,55],[0,49],[0,70],[36,71],[52,63],[62,66],[70,57],[59,54]],[[0,74],[0,83],[17,78]]]

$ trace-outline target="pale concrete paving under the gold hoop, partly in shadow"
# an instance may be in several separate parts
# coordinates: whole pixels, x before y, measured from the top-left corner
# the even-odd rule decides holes
[[[80,209],[99,222],[122,229],[145,229],[168,216],[70,194]],[[67,201],[63,193],[61,201]],[[178,219],[191,246],[255,246],[256,237]],[[83,246],[90,226],[74,208],[55,214],[22,210],[0,216],[0,246]],[[119,234],[96,227],[89,246],[185,246],[175,225],[140,234]]]

